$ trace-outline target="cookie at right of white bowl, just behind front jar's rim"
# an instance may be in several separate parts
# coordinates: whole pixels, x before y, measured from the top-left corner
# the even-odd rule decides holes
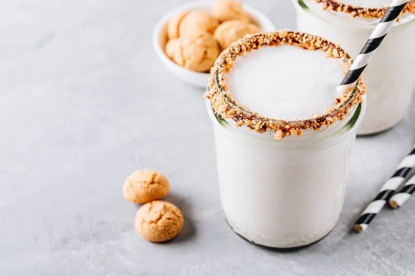
[[[253,23],[230,20],[221,23],[216,28],[213,37],[219,42],[221,49],[224,50],[230,46],[230,43],[241,39],[245,34],[255,34],[257,32],[261,32],[261,28]]]

